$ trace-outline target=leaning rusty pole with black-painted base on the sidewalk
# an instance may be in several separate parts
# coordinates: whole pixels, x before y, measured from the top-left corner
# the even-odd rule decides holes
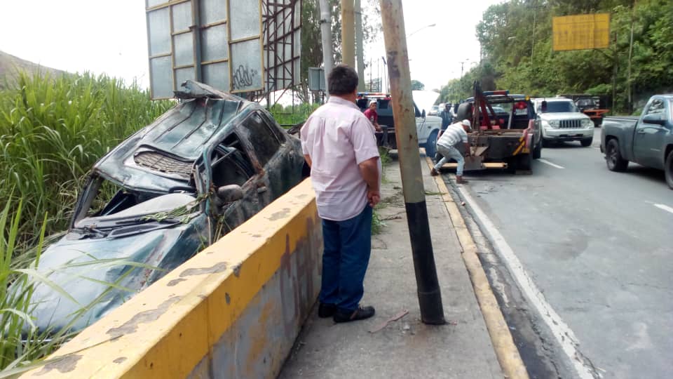
[[[402,0],[381,0],[381,19],[383,39],[386,41],[397,154],[402,173],[402,192],[405,195],[409,239],[412,242],[421,321],[425,324],[446,324],[421,176],[419,137],[416,134]]]

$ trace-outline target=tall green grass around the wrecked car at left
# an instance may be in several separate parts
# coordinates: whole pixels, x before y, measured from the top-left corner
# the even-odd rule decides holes
[[[50,240],[46,236],[56,238],[55,233],[67,229],[94,162],[172,105],[151,102],[136,84],[90,74],[20,73],[14,85],[0,91],[0,190],[6,196],[0,213],[0,377],[26,371],[30,362],[72,338],[69,327],[39,331],[29,317],[36,285],[69,297],[47,279],[49,272],[36,270]],[[128,273],[144,267],[93,256],[68,267],[74,265],[131,266]],[[121,288],[122,279],[102,284]],[[107,293],[73,310],[71,325]]]

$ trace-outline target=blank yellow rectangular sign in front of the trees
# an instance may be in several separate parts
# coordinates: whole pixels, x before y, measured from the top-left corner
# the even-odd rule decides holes
[[[552,29],[555,51],[608,48],[610,13],[555,17]]]

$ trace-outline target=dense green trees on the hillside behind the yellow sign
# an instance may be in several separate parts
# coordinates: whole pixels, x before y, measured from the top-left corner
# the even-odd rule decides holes
[[[587,13],[611,14],[610,47],[552,51],[552,17]],[[484,90],[614,96],[614,105],[607,105],[616,112],[630,113],[637,108],[634,102],[673,90],[671,15],[673,2],[669,0],[512,0],[491,6],[477,25],[484,54],[481,65],[462,80],[454,79],[444,86],[442,101],[471,95],[471,83],[480,80]]]

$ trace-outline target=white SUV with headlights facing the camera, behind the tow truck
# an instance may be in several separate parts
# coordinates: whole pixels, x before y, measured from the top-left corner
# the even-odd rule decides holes
[[[580,141],[584,147],[591,146],[594,138],[594,122],[580,112],[573,100],[568,98],[532,100],[541,125],[544,145],[553,142]]]

